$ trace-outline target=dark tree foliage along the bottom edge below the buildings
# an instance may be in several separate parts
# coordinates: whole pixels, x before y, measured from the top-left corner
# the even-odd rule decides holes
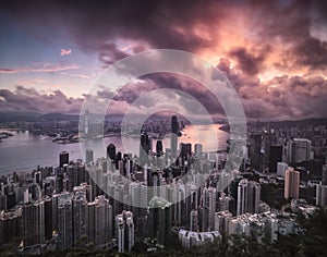
[[[299,215],[298,222],[303,233],[296,235],[279,235],[279,240],[272,244],[259,244],[251,237],[232,235],[223,237],[219,244],[210,244],[203,248],[184,249],[171,247],[158,249],[153,253],[135,247],[131,254],[118,254],[112,249],[100,249],[92,244],[68,250],[50,252],[45,256],[215,256],[215,257],[306,257],[326,256],[327,253],[327,209],[317,209],[305,218]],[[2,245],[0,256],[15,256],[12,245]]]

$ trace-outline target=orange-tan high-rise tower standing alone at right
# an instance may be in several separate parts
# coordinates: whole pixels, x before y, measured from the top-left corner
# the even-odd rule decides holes
[[[300,172],[289,168],[284,173],[284,198],[299,199]]]

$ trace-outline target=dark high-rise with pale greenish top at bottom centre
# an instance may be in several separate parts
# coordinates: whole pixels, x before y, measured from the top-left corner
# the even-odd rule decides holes
[[[149,207],[149,236],[157,240],[158,245],[167,246],[171,235],[171,203],[155,196]]]

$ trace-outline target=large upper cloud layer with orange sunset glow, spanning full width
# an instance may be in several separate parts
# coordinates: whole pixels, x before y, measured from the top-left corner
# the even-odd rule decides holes
[[[104,65],[124,58],[131,48],[133,52],[172,48],[226,57],[247,75],[272,68],[284,74],[299,69],[313,72],[327,65],[323,0],[4,1],[1,8],[36,37],[50,38],[45,27],[51,27],[51,33],[64,30],[81,49],[98,51]],[[133,47],[116,46],[117,39]],[[134,47],[135,42],[142,44]]]

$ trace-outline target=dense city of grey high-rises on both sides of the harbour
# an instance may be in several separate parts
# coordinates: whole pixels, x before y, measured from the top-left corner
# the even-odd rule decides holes
[[[119,132],[110,122],[104,134]],[[60,135],[73,144],[73,137],[81,140],[77,124],[43,120],[1,126]],[[249,123],[242,164],[232,171],[225,169],[231,143],[210,152],[201,142],[178,144],[186,125],[175,115],[147,125],[138,156],[109,144],[102,158],[95,159],[93,149],[86,149],[85,160],[62,151],[56,167],[35,163],[33,171],[2,174],[0,255],[326,254],[324,120]],[[160,137],[168,132],[170,147],[164,149]],[[14,136],[2,135],[2,140]]]

